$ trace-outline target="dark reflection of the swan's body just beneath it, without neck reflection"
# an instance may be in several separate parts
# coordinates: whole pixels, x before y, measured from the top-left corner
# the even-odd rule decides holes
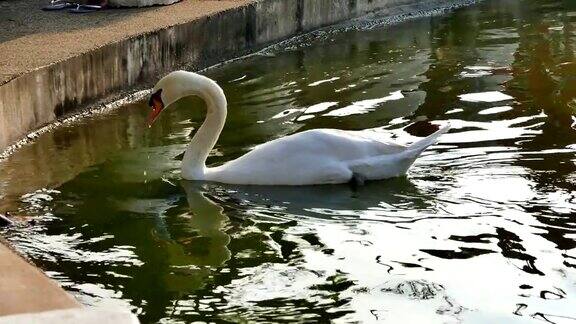
[[[188,201],[213,199],[250,217],[268,216],[278,221],[308,217],[317,219],[358,219],[367,210],[426,210],[434,205],[433,197],[421,192],[409,179],[401,177],[368,182],[353,188],[349,185],[251,186],[214,182],[182,181]],[[221,207],[219,207],[221,208]],[[288,218],[288,219],[287,219]],[[382,219],[383,221],[386,221]]]

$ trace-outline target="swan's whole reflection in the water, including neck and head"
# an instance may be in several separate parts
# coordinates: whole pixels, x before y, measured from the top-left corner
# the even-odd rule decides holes
[[[176,239],[162,240],[171,265],[166,284],[179,292],[202,288],[214,271],[226,266],[231,258],[227,231],[235,218],[288,226],[290,221],[303,218],[313,222],[349,219],[354,226],[367,210],[376,210],[379,215],[388,210],[421,210],[433,201],[406,178],[369,182],[357,189],[347,185],[242,186],[186,180],[179,186],[189,210],[170,220],[167,234]],[[413,216],[400,216],[379,220],[413,221]]]

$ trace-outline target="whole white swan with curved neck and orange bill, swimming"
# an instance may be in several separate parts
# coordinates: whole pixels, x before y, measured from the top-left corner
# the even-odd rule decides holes
[[[164,107],[196,95],[206,102],[206,119],[182,161],[182,177],[250,185],[317,185],[351,180],[377,180],[404,175],[428,146],[446,133],[434,134],[405,146],[365,132],[315,129],[285,136],[255,147],[244,156],[208,168],[206,158],[226,121],[226,97],[213,80],[186,71],[162,78],[152,90],[148,118],[151,126]]]

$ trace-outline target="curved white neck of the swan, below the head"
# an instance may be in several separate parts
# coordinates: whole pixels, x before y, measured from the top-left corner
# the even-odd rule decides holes
[[[226,121],[226,97],[215,82],[207,82],[194,93],[206,102],[206,119],[184,153],[182,176],[189,180],[204,180],[206,159]]]

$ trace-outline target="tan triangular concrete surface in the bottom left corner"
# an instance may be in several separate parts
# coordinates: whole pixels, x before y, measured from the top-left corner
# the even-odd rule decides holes
[[[80,307],[56,282],[1,242],[0,269],[0,316]]]

